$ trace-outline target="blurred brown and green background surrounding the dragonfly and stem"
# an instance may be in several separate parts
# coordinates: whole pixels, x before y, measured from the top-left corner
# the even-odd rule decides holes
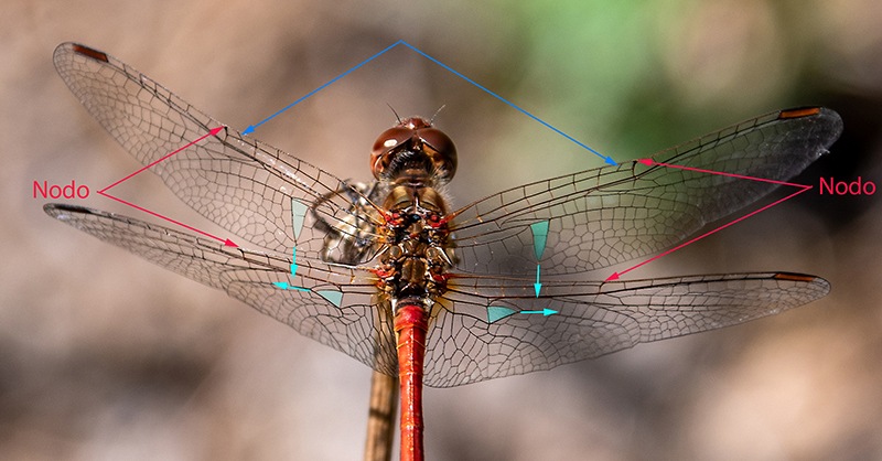
[[[874,0],[434,3],[4,2],[0,458],[355,460],[364,447],[364,365],[43,214],[35,180],[95,191],[139,167],[55,74],[64,41],[240,130],[399,39],[617,161],[824,105],[845,133],[795,181],[882,180]],[[400,46],[255,136],[367,180],[389,106],[444,106],[435,120],[459,148],[459,205],[601,165]],[[157,178],[133,184],[123,196],[216,230]],[[79,203],[146,218],[95,194]],[[807,193],[648,265],[634,277],[790,270],[833,288],[749,324],[428,389],[428,458],[882,458],[880,208],[876,196]]]

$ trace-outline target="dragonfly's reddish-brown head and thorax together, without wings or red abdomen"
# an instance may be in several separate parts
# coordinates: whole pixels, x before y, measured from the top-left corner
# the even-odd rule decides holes
[[[437,187],[456,171],[456,148],[429,120],[411,117],[384,131],[370,156],[384,186],[386,244],[375,268],[381,296],[391,305],[431,305],[447,291],[453,267],[447,204]]]

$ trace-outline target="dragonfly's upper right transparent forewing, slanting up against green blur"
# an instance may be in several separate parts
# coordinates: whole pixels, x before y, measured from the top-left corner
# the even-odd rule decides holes
[[[827,152],[841,131],[832,110],[784,110],[653,159],[786,181]],[[458,269],[527,275],[538,262],[544,275],[563,275],[609,267],[669,248],[776,186],[637,161],[526,184],[456,212]]]

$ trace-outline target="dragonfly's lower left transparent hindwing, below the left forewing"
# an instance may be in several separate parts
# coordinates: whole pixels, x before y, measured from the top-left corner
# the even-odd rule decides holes
[[[226,291],[256,310],[386,374],[397,369],[387,305],[375,304],[373,275],[357,268],[234,248],[135,218],[82,206],[45,212],[106,243]],[[277,283],[290,287],[280,288]]]

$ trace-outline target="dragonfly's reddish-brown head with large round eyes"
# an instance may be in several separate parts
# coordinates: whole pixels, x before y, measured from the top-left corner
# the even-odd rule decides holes
[[[422,117],[409,117],[384,131],[374,142],[370,170],[378,180],[392,180],[407,170],[423,170],[447,183],[456,173],[456,147]]]

